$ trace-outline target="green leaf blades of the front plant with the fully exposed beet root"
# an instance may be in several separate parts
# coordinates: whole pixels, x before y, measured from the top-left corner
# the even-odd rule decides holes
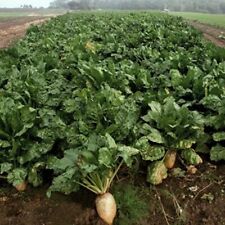
[[[92,134],[76,148],[65,150],[64,157],[53,157],[48,162],[48,168],[54,170],[56,177],[48,191],[70,193],[78,189],[84,178],[96,174],[99,179],[109,177],[119,164],[119,160],[130,167],[132,159],[139,150],[125,145],[117,145],[109,135]],[[72,181],[71,181],[72,180]]]

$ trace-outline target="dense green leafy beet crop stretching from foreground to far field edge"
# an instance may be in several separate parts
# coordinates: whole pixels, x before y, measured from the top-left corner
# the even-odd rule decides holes
[[[48,174],[48,196],[103,194],[121,167],[157,185],[176,157],[225,160],[225,50],[180,18],[51,19],[0,51],[0,86],[0,174],[18,190]]]

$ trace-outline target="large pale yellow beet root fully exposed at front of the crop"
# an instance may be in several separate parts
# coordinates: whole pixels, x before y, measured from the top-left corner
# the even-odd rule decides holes
[[[99,195],[95,204],[99,217],[108,225],[112,225],[116,216],[116,201],[113,195],[110,193]]]

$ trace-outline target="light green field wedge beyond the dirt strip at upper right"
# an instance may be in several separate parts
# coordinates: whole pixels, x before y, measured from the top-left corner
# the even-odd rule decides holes
[[[192,13],[192,12],[171,12],[171,15],[182,16],[189,20],[197,20],[202,23],[211,24],[225,28],[225,15],[208,14],[208,13]]]

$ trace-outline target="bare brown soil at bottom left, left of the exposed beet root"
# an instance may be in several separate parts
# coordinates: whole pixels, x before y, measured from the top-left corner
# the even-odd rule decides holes
[[[0,194],[1,225],[101,225],[94,210],[94,196],[79,192],[46,197],[46,188],[17,193],[11,188]]]

